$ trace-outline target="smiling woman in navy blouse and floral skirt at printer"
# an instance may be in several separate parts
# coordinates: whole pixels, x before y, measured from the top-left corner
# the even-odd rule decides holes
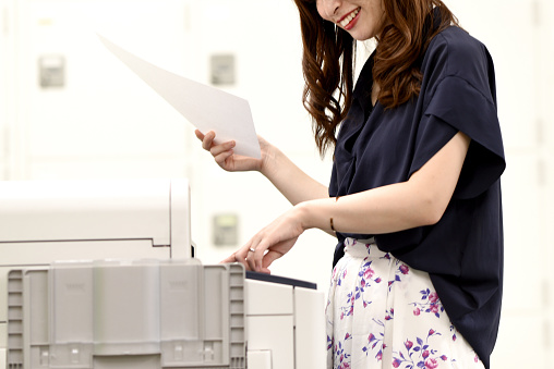
[[[226,262],[268,272],[305,230],[336,233],[329,368],[489,368],[498,330],[505,168],[486,48],[441,0],[294,0],[304,106],[329,187],[260,138],[256,170],[293,207]],[[356,40],[376,39],[356,88]],[[314,253],[317,253],[314,249]]]

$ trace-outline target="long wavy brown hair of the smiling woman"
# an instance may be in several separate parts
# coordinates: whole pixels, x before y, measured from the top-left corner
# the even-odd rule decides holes
[[[302,101],[312,116],[315,143],[322,156],[335,146],[336,131],[351,104],[356,40],[317,13],[316,0],[294,0],[300,13],[304,91]],[[377,100],[385,109],[398,107],[421,88],[416,63],[431,39],[457,19],[442,0],[384,0],[387,26],[376,38],[373,78],[380,86]],[[441,12],[438,26],[429,16]]]

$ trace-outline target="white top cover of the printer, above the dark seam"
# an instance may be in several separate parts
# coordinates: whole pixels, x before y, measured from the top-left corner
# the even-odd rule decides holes
[[[0,182],[0,247],[98,239],[149,239],[150,246],[174,241],[183,248],[177,255],[190,256],[188,181]],[[22,262],[29,263],[27,257]],[[0,262],[12,263],[5,259]]]

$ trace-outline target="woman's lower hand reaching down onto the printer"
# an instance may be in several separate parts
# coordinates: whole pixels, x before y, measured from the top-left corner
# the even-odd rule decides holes
[[[300,217],[301,212],[299,206],[285,212],[221,262],[238,261],[246,270],[270,273],[269,266],[287,254],[305,231]]]

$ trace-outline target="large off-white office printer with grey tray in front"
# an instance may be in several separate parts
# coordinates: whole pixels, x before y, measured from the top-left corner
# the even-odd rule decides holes
[[[0,183],[0,369],[325,365],[315,286],[193,254],[186,180]]]

